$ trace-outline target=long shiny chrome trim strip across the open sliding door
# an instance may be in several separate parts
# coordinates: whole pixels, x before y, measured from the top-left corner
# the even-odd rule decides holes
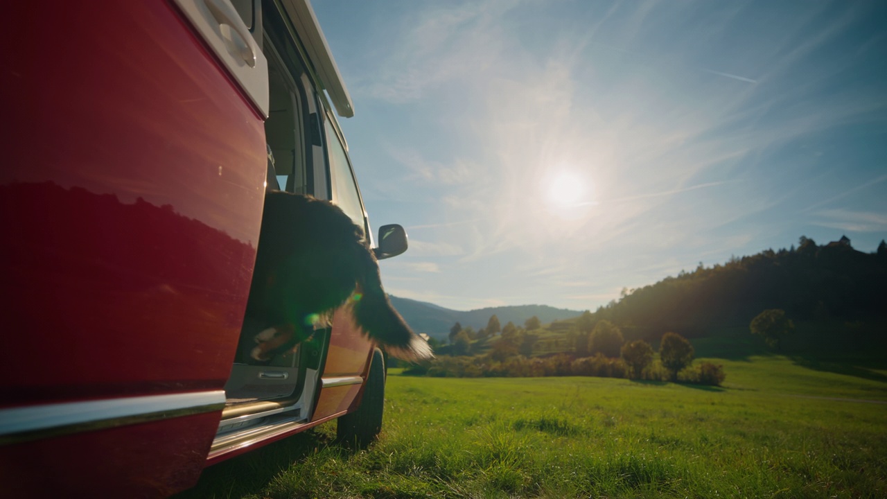
[[[224,408],[224,390],[0,409],[0,445]]]

